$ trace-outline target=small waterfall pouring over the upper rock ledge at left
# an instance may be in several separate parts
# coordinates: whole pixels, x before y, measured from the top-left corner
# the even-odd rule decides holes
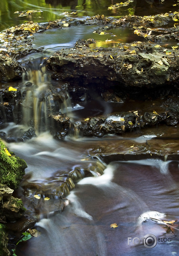
[[[46,131],[54,134],[53,127],[57,126],[56,120],[59,120],[61,115],[65,116],[63,113],[66,113],[71,102],[66,91],[58,85],[52,85],[45,65],[40,64],[39,67],[40,69],[35,70],[34,67],[25,68],[21,88],[21,94],[25,96],[21,103],[20,124],[33,127],[36,135]],[[59,123],[61,122],[60,120]],[[69,120],[68,122],[70,123]],[[59,127],[58,132],[61,132],[61,128],[63,127]]]

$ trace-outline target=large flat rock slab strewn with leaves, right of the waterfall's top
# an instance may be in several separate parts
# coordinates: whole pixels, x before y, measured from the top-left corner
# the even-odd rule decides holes
[[[47,66],[54,79],[73,83],[78,78],[79,84],[100,83],[103,88],[112,84],[156,88],[177,83],[179,51],[172,50],[166,59],[165,48],[154,46],[136,42],[134,46],[120,44],[95,51],[86,47],[64,49],[51,56]]]

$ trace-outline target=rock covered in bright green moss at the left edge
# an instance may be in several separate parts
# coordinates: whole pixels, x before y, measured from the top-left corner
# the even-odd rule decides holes
[[[25,174],[27,165],[23,159],[9,152],[3,141],[0,140],[0,183],[12,189],[19,187]]]

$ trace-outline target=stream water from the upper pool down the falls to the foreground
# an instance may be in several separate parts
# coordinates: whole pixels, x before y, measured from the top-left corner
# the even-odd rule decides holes
[[[58,19],[63,11],[76,9],[79,11],[78,18],[96,15],[96,11],[104,11],[108,16],[120,16],[130,11],[126,9],[121,14],[107,12],[106,6],[110,6],[113,1],[91,1],[91,4],[90,1],[67,2],[65,4],[64,1],[50,0],[45,3],[42,0],[4,0],[1,19],[7,13],[8,19],[1,23],[1,28],[25,22],[26,18],[17,18],[17,15],[15,17],[13,12],[17,10],[42,9],[43,14],[35,17],[37,22],[43,22],[43,19],[48,18]],[[155,2],[153,9],[151,7],[149,11],[155,13],[157,8]],[[145,11],[145,8],[142,10]],[[22,92],[26,90],[26,97],[22,103],[21,123],[9,123],[1,130],[7,133],[13,129],[25,130],[33,123],[38,135],[25,143],[10,142],[6,145],[28,165],[16,195],[23,200],[27,208],[26,214],[37,219],[34,228],[37,228],[40,235],[32,237],[26,243],[19,243],[16,254],[178,255],[178,161],[145,159],[124,162],[110,160],[106,163],[100,156],[103,154],[103,148],[107,144],[118,147],[121,144],[121,137],[81,137],[78,134],[78,124],[81,118],[89,115],[110,114],[112,106],[99,101],[98,98],[94,102],[72,106],[68,97],[63,99],[61,104],[57,104],[53,93],[45,95],[51,84],[59,91],[62,88],[50,81],[43,65],[43,58],[49,57],[59,49],[72,47],[79,38],[91,37],[94,29],[95,27],[87,29],[79,26],[59,30],[57,33],[52,29],[44,34],[35,35],[34,44],[37,47],[43,45],[43,52],[32,54],[22,60],[24,76],[20,83],[30,82],[34,86],[33,89],[21,87]],[[126,30],[118,32],[118,38],[122,38],[123,42],[132,42],[133,39],[129,40],[128,35],[129,31]],[[71,121],[76,122],[76,128],[64,141],[54,140],[49,133],[51,124],[48,116],[54,110],[67,113]],[[97,151],[99,154],[94,154]],[[66,184],[63,191],[59,189],[62,184]],[[34,194],[39,195],[40,199],[34,198]],[[47,197],[49,200],[44,201]],[[60,211],[62,202],[65,205],[63,212]],[[172,226],[164,220],[175,221],[175,224]],[[117,226],[110,227],[114,223]],[[144,237],[147,234],[156,237],[154,248],[146,247]],[[145,245],[142,244],[142,239]]]

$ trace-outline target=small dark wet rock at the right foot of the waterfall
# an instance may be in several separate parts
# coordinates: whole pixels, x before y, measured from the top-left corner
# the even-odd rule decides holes
[[[50,128],[51,133],[56,139],[64,139],[70,129],[71,121],[66,114],[61,112],[57,115],[50,115],[52,119],[52,126]]]

